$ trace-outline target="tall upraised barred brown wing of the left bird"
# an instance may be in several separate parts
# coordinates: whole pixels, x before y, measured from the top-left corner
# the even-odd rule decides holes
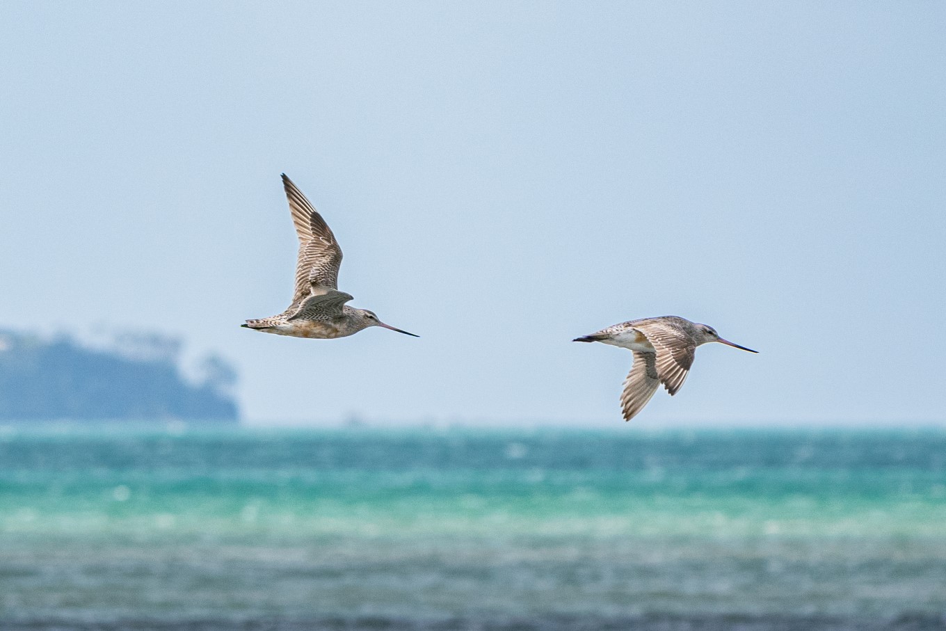
[[[296,234],[299,236],[296,283],[292,293],[292,303],[295,305],[306,300],[310,293],[319,293],[320,288],[339,288],[342,248],[322,215],[285,173],[283,186],[286,189],[286,199],[289,200],[292,223],[295,224]]]

